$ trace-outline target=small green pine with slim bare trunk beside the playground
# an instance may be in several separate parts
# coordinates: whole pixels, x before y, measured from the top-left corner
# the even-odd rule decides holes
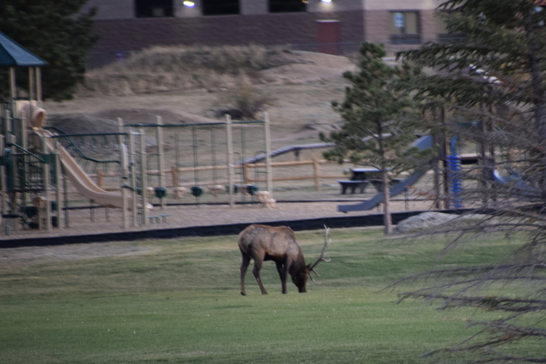
[[[401,87],[411,69],[389,67],[383,62],[382,45],[365,43],[358,73],[350,71],[343,77],[351,82],[346,88],[345,101],[333,102],[345,121],[340,132],[321,134],[322,140],[333,141],[335,147],[325,152],[328,159],[340,163],[348,158],[357,165],[373,166],[381,173],[385,235],[391,234],[388,174],[410,169],[406,157],[408,143],[414,139],[416,112],[408,91]],[[413,152],[413,150],[411,151]]]

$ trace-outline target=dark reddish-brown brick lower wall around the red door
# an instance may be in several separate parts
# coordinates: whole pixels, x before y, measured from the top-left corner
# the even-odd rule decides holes
[[[316,20],[341,21],[341,41],[363,41],[363,11],[286,13],[184,18],[96,20],[93,51],[140,50],[151,45],[317,43]],[[388,28],[388,23],[387,23]]]

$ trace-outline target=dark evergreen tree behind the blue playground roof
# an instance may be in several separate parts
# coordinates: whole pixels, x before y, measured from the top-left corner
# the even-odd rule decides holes
[[[79,14],[86,2],[0,0],[0,31],[48,63],[42,69],[44,98],[72,98],[84,80],[86,52],[96,41],[91,35],[94,9]],[[26,69],[18,71],[23,89],[27,77]],[[0,85],[9,90],[6,70],[1,70]]]

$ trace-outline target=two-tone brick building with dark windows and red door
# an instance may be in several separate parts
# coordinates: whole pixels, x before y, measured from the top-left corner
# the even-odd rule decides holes
[[[389,52],[442,37],[435,0],[89,0],[98,9],[93,53],[152,45],[292,44],[342,53],[363,41]],[[337,44],[324,47],[321,44]]]

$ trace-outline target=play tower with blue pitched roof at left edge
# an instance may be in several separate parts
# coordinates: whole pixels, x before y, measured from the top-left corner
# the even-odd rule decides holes
[[[17,86],[15,80],[15,68],[28,68],[28,100],[32,105],[41,101],[41,76],[40,67],[45,61],[5,34],[0,32],[0,67],[9,67],[9,88],[10,102],[2,102],[0,106],[0,117],[2,118],[2,138],[0,138],[0,157],[2,167],[0,168],[0,191],[2,205],[0,207],[2,218],[5,221],[5,232],[9,234],[10,223],[13,220],[21,219],[29,225],[51,228],[50,204],[44,203],[43,196],[35,195],[31,199],[29,193],[40,194],[49,188],[50,170],[44,165],[50,162],[46,156],[31,153],[26,148],[27,133],[21,120],[11,121],[13,116],[24,114],[32,116],[34,120],[41,120],[39,110],[21,108],[17,110],[15,100],[17,99]],[[55,167],[55,163],[51,163]],[[8,172],[11,173],[8,175]],[[40,178],[45,177],[45,178]],[[57,174],[54,174],[54,183],[58,182]],[[21,208],[17,206],[17,197],[22,194]],[[8,195],[13,201],[8,204]],[[34,204],[33,204],[34,202]],[[8,206],[9,205],[9,206]],[[30,222],[28,219],[35,218],[37,222]],[[58,219],[57,219],[58,224]]]

